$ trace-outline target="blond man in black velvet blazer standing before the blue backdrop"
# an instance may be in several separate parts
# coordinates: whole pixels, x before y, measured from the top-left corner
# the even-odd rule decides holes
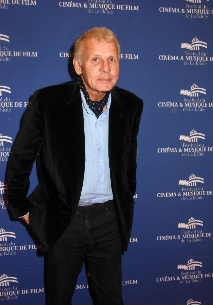
[[[143,103],[115,87],[119,54],[110,30],[85,32],[75,44],[78,80],[35,92],[12,149],[7,194],[46,252],[50,305],[71,304],[85,256],[94,304],[123,304]],[[26,198],[38,152],[43,179]]]

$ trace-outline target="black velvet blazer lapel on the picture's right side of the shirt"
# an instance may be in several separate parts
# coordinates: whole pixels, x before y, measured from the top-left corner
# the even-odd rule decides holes
[[[112,101],[109,111],[109,164],[113,168],[117,158],[120,139],[125,132],[128,113],[123,109],[125,102],[117,93],[115,87],[111,90],[111,96]]]

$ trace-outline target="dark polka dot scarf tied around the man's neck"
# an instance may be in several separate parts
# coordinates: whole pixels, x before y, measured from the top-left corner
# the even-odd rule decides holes
[[[106,95],[100,101],[97,101],[97,102],[91,101],[89,94],[86,90],[85,84],[82,81],[81,76],[79,76],[77,78],[77,82],[78,82],[80,90],[84,94],[87,105],[95,113],[96,117],[98,118],[101,115],[101,113],[103,112],[103,107],[106,106],[106,103],[108,102],[110,91],[106,92]]]

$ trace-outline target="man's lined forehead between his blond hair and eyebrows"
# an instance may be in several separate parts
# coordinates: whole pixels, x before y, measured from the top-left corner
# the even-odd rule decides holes
[[[85,39],[83,42],[83,59],[93,55],[118,56],[117,45],[115,41],[98,41],[95,38]]]

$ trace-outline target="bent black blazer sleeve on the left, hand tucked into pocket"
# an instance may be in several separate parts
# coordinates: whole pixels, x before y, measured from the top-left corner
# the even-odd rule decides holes
[[[41,106],[39,92],[36,91],[9,158],[7,197],[14,217],[21,217],[30,210],[26,198],[30,185],[29,176],[45,138]]]

